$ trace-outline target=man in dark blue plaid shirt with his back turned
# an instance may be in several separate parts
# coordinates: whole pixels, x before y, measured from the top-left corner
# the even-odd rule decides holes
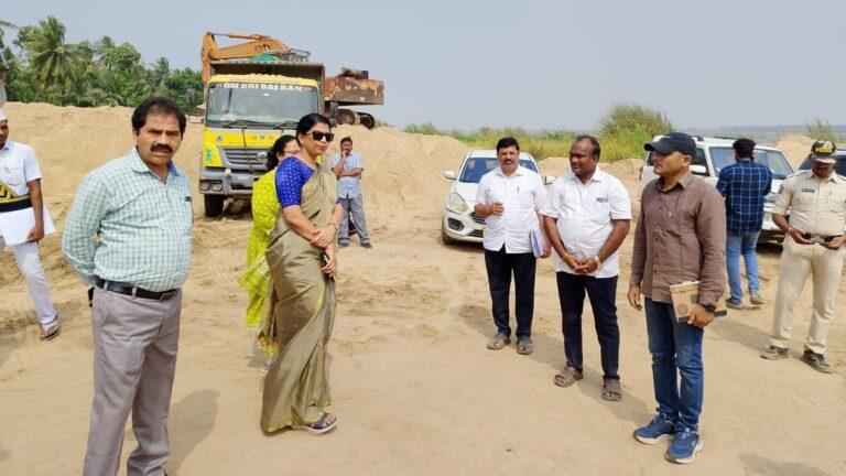
[[[763,226],[763,198],[772,187],[770,167],[755,162],[755,142],[738,139],[731,147],[735,160],[719,172],[717,191],[726,199],[726,269],[731,298],[726,305],[744,309],[744,290],[740,282],[740,255],[746,262],[746,281],[749,302],[758,306],[763,299],[758,292],[758,256],[755,248]]]

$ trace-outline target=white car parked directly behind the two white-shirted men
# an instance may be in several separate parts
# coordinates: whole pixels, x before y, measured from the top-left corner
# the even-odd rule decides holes
[[[520,152],[520,165],[539,172],[538,162],[525,152]],[[499,166],[497,151],[475,150],[465,155],[458,173],[444,172],[444,177],[455,181],[444,201],[444,217],[441,220],[441,239],[445,245],[456,241],[481,242],[485,218],[476,215],[476,191],[482,175]],[[547,176],[546,185],[555,177]]]

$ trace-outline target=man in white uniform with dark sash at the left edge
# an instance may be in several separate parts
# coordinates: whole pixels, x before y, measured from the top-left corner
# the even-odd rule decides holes
[[[47,278],[39,259],[39,241],[44,238],[44,201],[41,195],[41,169],[35,151],[26,144],[9,139],[9,118],[0,110],[0,214],[31,210],[34,218],[17,225],[18,220],[3,220],[4,227],[26,226],[26,241],[9,244],[18,269],[26,279],[30,296],[41,322],[42,340],[58,335],[58,315],[50,296]],[[20,212],[22,213],[22,212]],[[20,215],[15,214],[13,216]],[[31,226],[32,224],[32,226]],[[0,251],[7,246],[7,236],[23,230],[0,228]]]

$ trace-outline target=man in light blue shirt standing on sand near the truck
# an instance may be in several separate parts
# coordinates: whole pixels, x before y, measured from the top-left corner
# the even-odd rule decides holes
[[[344,218],[340,220],[338,246],[349,246],[349,215],[356,224],[356,232],[365,248],[372,248],[367,232],[365,219],[365,199],[361,196],[361,172],[365,163],[361,155],[352,153],[352,139],[345,137],[340,140],[340,153],[332,158],[332,171],[338,177],[338,199],[344,207]]]

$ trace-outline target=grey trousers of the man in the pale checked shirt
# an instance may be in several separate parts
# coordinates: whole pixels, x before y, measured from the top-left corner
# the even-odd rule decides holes
[[[182,291],[160,302],[95,289],[94,403],[85,476],[118,474],[130,411],[138,447],[127,461],[127,475],[164,474],[181,305]]]

